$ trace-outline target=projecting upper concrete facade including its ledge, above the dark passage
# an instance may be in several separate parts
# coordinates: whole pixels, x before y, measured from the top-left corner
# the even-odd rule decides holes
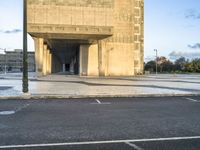
[[[28,32],[44,38],[109,36],[113,32],[112,5],[113,0],[28,0]]]

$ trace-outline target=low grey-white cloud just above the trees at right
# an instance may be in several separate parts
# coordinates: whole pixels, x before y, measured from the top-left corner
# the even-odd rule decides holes
[[[181,52],[181,51],[172,51],[169,54],[171,60],[176,60],[180,57],[185,57],[186,59],[195,59],[200,58],[200,52]]]

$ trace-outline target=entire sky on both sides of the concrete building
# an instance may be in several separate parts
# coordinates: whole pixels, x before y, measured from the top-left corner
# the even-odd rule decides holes
[[[0,48],[22,49],[22,0],[0,0]],[[144,0],[145,61],[200,58],[200,0]],[[34,42],[28,36],[28,50]]]

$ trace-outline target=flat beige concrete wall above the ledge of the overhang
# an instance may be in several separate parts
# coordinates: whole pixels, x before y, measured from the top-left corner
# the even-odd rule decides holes
[[[112,0],[28,0],[28,23],[112,26]]]

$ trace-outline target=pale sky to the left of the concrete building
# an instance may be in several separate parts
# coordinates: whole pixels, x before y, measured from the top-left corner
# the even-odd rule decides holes
[[[22,31],[23,0],[0,0],[0,49],[22,49]],[[28,49],[34,51],[34,42],[30,36]]]

